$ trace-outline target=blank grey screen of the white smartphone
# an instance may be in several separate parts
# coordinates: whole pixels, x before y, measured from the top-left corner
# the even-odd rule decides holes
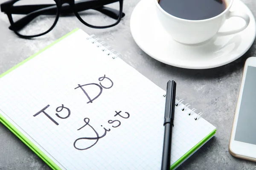
[[[256,144],[256,67],[247,68],[235,141]]]

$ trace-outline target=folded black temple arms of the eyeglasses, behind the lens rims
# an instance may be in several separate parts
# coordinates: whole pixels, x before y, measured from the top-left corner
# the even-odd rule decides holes
[[[24,26],[26,26],[29,22],[31,22],[35,17],[38,17],[41,14],[49,14],[49,15],[53,15],[56,14],[56,6],[52,6],[52,5],[34,5],[37,6],[37,8],[43,7],[43,8],[39,8],[36,11],[32,11],[31,7],[32,6],[13,6],[12,10],[11,10],[11,14],[27,14],[25,17],[21,18],[20,20],[17,20],[16,22],[12,23],[12,25],[9,27],[9,29],[11,29],[12,31],[17,31],[20,30],[21,28],[23,28]],[[48,7],[47,7],[48,6]],[[35,9],[35,8],[34,8]],[[83,8],[79,8],[79,11],[84,11],[87,10],[83,9]],[[105,14],[113,19],[118,19],[119,17],[119,11],[113,8],[109,8],[109,7],[98,7],[98,8],[94,8],[94,10],[101,12],[102,14]],[[71,14],[72,8],[67,5],[64,4],[61,8],[61,14]],[[122,13],[122,17],[125,16],[125,13]]]

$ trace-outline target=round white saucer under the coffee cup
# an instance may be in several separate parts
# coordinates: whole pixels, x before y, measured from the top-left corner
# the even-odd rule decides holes
[[[231,11],[243,11],[250,16],[249,26],[233,35],[213,37],[200,45],[184,45],[163,29],[157,20],[153,0],[141,0],[131,15],[131,34],[137,45],[149,56],[168,65],[181,68],[204,69],[225,65],[241,57],[253,44],[256,23],[250,9],[234,0]],[[224,23],[220,31],[239,28],[244,20],[233,17]]]

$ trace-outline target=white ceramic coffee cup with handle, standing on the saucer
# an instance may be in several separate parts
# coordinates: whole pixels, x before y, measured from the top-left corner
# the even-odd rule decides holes
[[[250,23],[250,17],[240,11],[230,11],[233,0],[225,0],[227,8],[221,14],[205,20],[185,20],[175,17],[160,7],[158,0],[153,0],[157,11],[157,17],[163,27],[178,42],[184,44],[198,44],[209,40],[215,34],[220,36],[236,34],[243,31]],[[219,32],[225,20],[230,17],[241,17],[245,24],[239,29],[232,29],[226,32]]]

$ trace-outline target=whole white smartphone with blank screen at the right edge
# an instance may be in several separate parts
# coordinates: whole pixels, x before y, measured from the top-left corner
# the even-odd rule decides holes
[[[256,57],[249,57],[244,64],[229,151],[235,157],[256,161]]]

